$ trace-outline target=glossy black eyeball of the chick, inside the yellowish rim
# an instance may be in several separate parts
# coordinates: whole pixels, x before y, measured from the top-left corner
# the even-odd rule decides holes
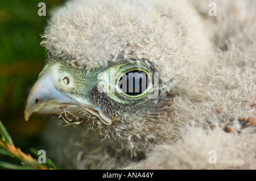
[[[119,89],[132,96],[142,94],[147,89],[147,84],[147,74],[138,70],[129,71],[118,82]]]

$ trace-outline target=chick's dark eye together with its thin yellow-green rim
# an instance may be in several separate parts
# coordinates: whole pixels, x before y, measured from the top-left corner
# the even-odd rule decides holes
[[[142,69],[126,71],[118,78],[117,87],[123,95],[141,97],[151,87],[151,75]]]

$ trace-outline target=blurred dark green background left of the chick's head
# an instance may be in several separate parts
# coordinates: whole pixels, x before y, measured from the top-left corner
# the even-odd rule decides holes
[[[46,16],[39,16],[39,2],[46,3]],[[31,86],[44,66],[45,50],[40,46],[49,12],[64,0],[0,0],[0,120],[14,144],[29,153],[43,144],[42,116],[24,120],[24,107]],[[0,155],[0,161],[6,161]]]

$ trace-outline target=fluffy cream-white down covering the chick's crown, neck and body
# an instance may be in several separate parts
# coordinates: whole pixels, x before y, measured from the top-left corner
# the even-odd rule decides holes
[[[256,1],[214,1],[217,16],[208,15],[209,2],[71,1],[53,11],[42,42],[48,57],[85,69],[143,58],[159,71],[163,92],[174,95],[163,95],[167,116],[154,133],[138,133],[139,145],[130,133],[122,142],[91,127],[51,125],[46,140],[60,164],[256,169]],[[133,124],[136,131],[146,125]]]

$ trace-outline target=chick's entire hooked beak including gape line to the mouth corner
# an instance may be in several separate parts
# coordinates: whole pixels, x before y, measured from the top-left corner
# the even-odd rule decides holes
[[[71,98],[63,94],[63,91],[57,89],[52,78],[55,68],[56,66],[44,70],[38,81],[32,86],[25,107],[25,120],[27,121],[32,113],[44,115],[60,114],[70,108],[81,107],[86,112],[98,117],[102,123],[111,125],[112,117],[102,112],[100,108],[93,106],[87,100]],[[56,76],[56,74],[54,74],[54,76]]]

